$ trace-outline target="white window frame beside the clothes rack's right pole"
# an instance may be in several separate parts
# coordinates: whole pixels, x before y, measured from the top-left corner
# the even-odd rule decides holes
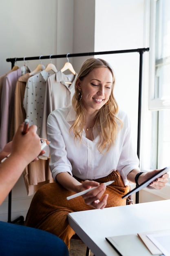
[[[142,92],[142,127],[141,127],[141,159],[140,168],[142,171],[150,171],[152,166],[151,153],[159,141],[153,145],[150,137],[152,131],[152,112],[170,108],[170,99],[154,99],[155,93],[155,36],[156,36],[156,4],[157,0],[145,1],[145,28],[144,43],[150,47],[149,56],[144,55],[144,74]],[[169,61],[167,59],[167,61]],[[149,90],[148,90],[149,88]],[[155,131],[157,133],[157,129]],[[159,153],[158,153],[159,154]],[[156,153],[155,153],[156,155]],[[170,199],[170,178],[169,182],[161,190],[144,189],[163,199]]]

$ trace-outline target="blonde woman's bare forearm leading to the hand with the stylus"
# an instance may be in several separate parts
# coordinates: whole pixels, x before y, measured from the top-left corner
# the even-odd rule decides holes
[[[81,183],[72,177],[69,173],[59,173],[56,176],[57,182],[59,182],[65,189],[73,192],[79,192],[79,187]]]

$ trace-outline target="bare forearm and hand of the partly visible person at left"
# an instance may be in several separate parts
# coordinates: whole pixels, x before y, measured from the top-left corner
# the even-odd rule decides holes
[[[0,204],[17,182],[24,168],[42,153],[40,137],[36,133],[37,127],[31,126],[28,132],[22,135],[23,126],[23,124],[19,126],[13,141],[0,152],[0,160],[11,153],[0,164]]]

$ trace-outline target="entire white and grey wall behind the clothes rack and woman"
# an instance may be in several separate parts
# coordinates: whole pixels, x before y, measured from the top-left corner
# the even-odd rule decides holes
[[[6,58],[149,47],[144,40],[145,0],[0,0],[0,75],[10,70]],[[137,140],[139,55],[98,56],[116,74],[115,96],[132,120]],[[87,57],[70,58],[75,70]],[[53,59],[59,70],[65,59]],[[29,61],[34,69],[39,61]],[[48,60],[43,60],[46,65]],[[24,62],[18,62],[21,66]],[[31,196],[21,176],[12,191],[12,219],[26,216]],[[7,199],[0,220],[7,220]]]

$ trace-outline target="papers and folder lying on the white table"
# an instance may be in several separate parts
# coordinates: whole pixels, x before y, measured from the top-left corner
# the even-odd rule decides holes
[[[106,237],[121,256],[170,256],[170,229]]]

